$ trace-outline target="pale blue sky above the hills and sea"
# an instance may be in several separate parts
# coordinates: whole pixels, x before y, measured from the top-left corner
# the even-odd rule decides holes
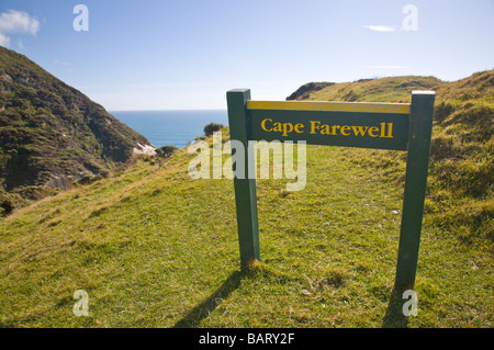
[[[82,7],[81,7],[82,5]],[[494,68],[494,0],[0,0],[0,45],[109,111]]]

